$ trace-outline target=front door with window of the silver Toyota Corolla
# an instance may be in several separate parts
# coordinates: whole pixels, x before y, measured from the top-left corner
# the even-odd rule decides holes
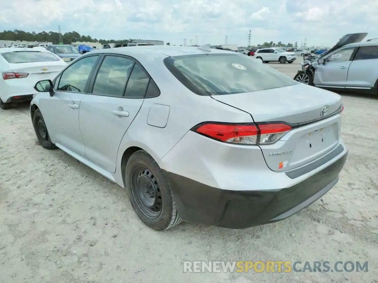
[[[46,126],[58,146],[84,156],[84,142],[79,126],[80,102],[87,95],[88,78],[98,55],[85,57],[70,65],[56,80],[55,94],[41,100]]]

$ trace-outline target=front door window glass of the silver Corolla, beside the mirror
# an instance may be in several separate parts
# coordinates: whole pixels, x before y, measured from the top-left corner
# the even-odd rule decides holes
[[[72,63],[60,76],[57,91],[84,92],[97,59],[98,55],[88,56]]]

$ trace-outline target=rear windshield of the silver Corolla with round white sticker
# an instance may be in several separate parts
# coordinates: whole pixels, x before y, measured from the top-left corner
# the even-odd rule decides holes
[[[297,85],[259,59],[241,54],[200,54],[167,57],[164,64],[198,95],[224,95]]]

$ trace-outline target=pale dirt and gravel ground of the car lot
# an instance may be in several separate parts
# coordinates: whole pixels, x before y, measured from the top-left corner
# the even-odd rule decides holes
[[[299,64],[271,66],[293,77]],[[378,282],[378,100],[342,99],[339,183],[287,220],[240,231],[151,231],[118,185],[37,144],[27,104],[0,111],[0,282]],[[183,260],[369,261],[369,272],[183,273]]]

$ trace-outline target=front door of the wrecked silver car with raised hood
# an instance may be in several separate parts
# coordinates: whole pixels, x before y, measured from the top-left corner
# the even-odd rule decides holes
[[[314,85],[318,87],[345,88],[348,69],[355,47],[344,48],[327,55],[325,64],[316,65]]]

